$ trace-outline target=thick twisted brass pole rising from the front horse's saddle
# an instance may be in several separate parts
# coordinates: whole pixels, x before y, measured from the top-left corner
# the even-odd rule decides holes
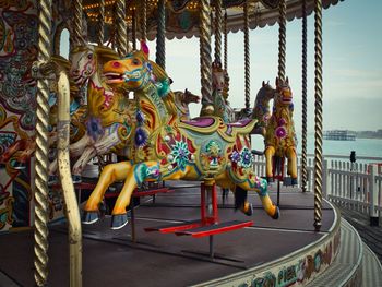
[[[210,0],[200,1],[200,53],[201,53],[201,85],[202,110],[201,116],[214,112],[212,99],[212,59],[211,59],[211,7]]]

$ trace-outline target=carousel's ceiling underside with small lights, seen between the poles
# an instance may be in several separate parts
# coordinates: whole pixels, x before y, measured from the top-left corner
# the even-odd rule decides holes
[[[147,37],[154,39],[157,25],[157,4],[158,0],[147,1]],[[344,0],[322,0],[323,8],[335,5]],[[112,33],[114,11],[116,0],[105,1],[105,22],[109,33]],[[127,22],[131,29],[132,17],[136,17],[138,35],[140,33],[140,11],[142,0],[127,0]],[[212,3],[212,14],[214,13],[214,3]],[[227,28],[229,32],[238,32],[243,27],[243,2],[244,0],[223,0],[223,11],[227,12]],[[278,20],[279,0],[250,0],[250,28],[264,27],[274,25]],[[199,7],[200,1],[196,0],[167,0],[166,1],[166,37],[172,38],[191,38],[199,36]],[[291,21],[302,16],[302,0],[286,0],[287,20]],[[83,8],[88,17],[89,24],[98,21],[99,1],[84,0]],[[307,0],[307,14],[311,14],[314,10],[314,0]],[[89,38],[96,38],[95,32],[91,32]]]

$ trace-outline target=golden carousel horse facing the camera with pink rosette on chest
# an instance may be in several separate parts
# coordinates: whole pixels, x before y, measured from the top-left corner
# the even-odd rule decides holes
[[[273,112],[266,125],[264,139],[266,177],[272,180],[274,177],[273,168],[278,168],[274,163],[280,162],[275,159],[286,157],[288,159],[287,172],[291,177],[291,184],[297,184],[297,142],[293,112],[293,93],[288,77],[285,82],[276,79]]]

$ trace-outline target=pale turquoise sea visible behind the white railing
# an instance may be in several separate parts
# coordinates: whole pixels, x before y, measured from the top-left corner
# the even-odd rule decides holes
[[[301,134],[297,134],[297,152],[300,154],[302,148]],[[264,150],[264,140],[262,136],[252,135],[252,148],[258,151]],[[335,155],[349,158],[351,151],[355,151],[356,158],[359,158],[362,162],[382,163],[382,139],[356,139],[356,141],[323,140],[322,150],[323,155],[327,157]],[[308,154],[314,154],[314,134],[308,134],[307,136],[307,151]]]

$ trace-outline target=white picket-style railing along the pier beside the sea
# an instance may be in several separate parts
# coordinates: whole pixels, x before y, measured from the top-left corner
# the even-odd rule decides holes
[[[347,156],[323,156],[324,198],[343,207],[370,216],[370,224],[378,225],[382,212],[382,158],[358,157],[360,163],[350,163]],[[301,179],[301,159],[298,158],[298,178]],[[372,163],[373,162],[373,163]],[[380,164],[375,164],[380,163]],[[284,167],[286,175],[286,166]],[[255,155],[254,170],[265,176],[265,157]],[[314,160],[308,155],[307,190],[313,191]],[[299,181],[298,188],[301,182]]]

